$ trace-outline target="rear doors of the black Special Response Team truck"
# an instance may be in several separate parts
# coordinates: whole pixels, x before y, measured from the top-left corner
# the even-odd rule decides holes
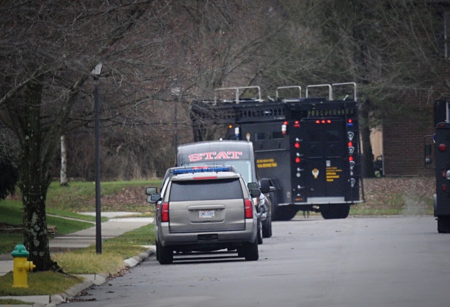
[[[306,119],[290,132],[294,202],[339,202],[348,186],[348,138],[341,118]],[[296,150],[297,149],[297,150]]]

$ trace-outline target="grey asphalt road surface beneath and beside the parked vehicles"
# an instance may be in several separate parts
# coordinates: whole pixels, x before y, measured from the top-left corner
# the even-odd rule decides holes
[[[447,307],[450,234],[436,227],[433,217],[274,222],[256,262],[193,253],[162,266],[151,257],[70,304]]]

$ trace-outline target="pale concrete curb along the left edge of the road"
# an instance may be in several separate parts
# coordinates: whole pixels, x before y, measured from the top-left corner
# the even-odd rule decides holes
[[[151,245],[146,251],[140,253],[138,256],[134,256],[124,260],[124,265],[126,267],[133,267],[144,261],[151,255],[154,255],[156,248]],[[68,300],[76,297],[81,291],[88,289],[92,285],[104,284],[109,277],[108,274],[89,274],[89,275],[76,275],[85,278],[81,283],[76,284],[70,289],[67,289],[63,293],[58,293],[54,295],[30,295],[30,296],[2,296],[0,298],[13,298],[23,302],[34,302],[33,307],[55,307],[56,305],[67,302]],[[3,306],[25,306],[30,305],[0,305]]]

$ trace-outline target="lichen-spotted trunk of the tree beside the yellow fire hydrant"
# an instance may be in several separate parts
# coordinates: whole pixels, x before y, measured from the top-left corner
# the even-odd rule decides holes
[[[58,268],[50,258],[45,200],[50,185],[49,164],[42,157],[42,127],[40,107],[42,83],[30,82],[25,91],[22,129],[21,185],[23,201],[23,244],[30,253],[28,259],[36,265],[36,271]]]

